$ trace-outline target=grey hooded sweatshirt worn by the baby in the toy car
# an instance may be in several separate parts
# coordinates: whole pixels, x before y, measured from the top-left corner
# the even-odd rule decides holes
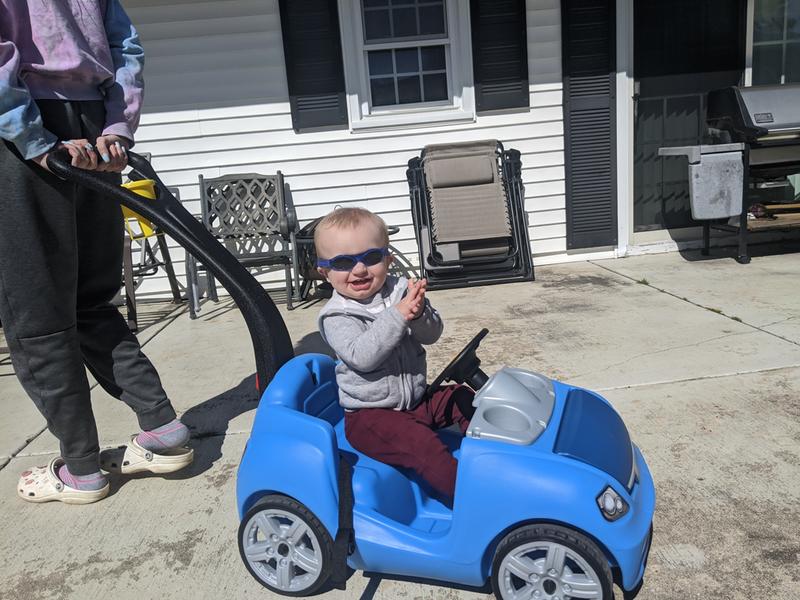
[[[425,392],[427,363],[422,344],[442,335],[442,320],[427,298],[407,322],[395,305],[408,290],[405,277],[386,278],[372,298],[354,300],[334,291],[319,314],[323,339],[339,357],[336,383],[346,409],[411,409]]]

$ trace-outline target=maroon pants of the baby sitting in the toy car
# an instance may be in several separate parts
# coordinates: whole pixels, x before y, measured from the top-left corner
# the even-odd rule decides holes
[[[466,386],[439,388],[413,410],[362,408],[344,415],[350,445],[370,458],[411,469],[443,499],[452,502],[458,461],[444,445],[437,429],[457,423],[467,432],[475,392]]]

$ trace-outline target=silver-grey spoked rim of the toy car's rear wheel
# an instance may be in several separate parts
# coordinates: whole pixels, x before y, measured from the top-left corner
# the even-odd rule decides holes
[[[297,515],[257,512],[242,534],[244,557],[259,579],[282,592],[310,588],[322,572],[322,551],[311,527]]]

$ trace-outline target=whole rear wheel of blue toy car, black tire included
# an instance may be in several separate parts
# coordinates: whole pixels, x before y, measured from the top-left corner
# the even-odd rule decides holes
[[[297,546],[294,542],[290,544],[288,539],[278,538],[272,541],[270,536],[261,531],[257,519],[263,520],[268,517],[271,526],[279,529],[286,524],[299,522],[307,533],[303,533],[298,540]],[[285,532],[284,532],[285,533]],[[262,535],[264,539],[259,539]],[[277,534],[275,534],[277,535]],[[283,596],[310,596],[317,592],[331,576],[333,540],[328,530],[317,519],[305,505],[296,500],[282,495],[265,496],[247,511],[239,525],[239,556],[242,558],[247,570],[261,585],[276,594]],[[256,550],[259,545],[265,546],[263,559],[250,558],[247,556],[245,548],[251,551]],[[301,550],[310,551],[318,562],[315,570],[304,570],[303,566],[295,562]],[[266,556],[269,552],[270,556]],[[309,552],[306,552],[308,555]],[[289,572],[290,584],[297,577],[296,589],[288,589],[286,585],[280,587],[278,574],[278,561],[285,560],[282,567],[284,572]]]

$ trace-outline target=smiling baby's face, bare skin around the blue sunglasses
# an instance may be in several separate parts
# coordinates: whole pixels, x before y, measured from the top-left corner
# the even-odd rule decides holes
[[[372,248],[383,247],[381,232],[377,225],[370,222],[360,223],[352,229],[326,228],[317,238],[317,254],[322,259],[331,259],[340,254],[357,255]],[[372,266],[359,262],[352,271],[335,271],[322,267],[318,270],[342,296],[366,300],[383,287],[391,262],[392,257],[386,256]]]

